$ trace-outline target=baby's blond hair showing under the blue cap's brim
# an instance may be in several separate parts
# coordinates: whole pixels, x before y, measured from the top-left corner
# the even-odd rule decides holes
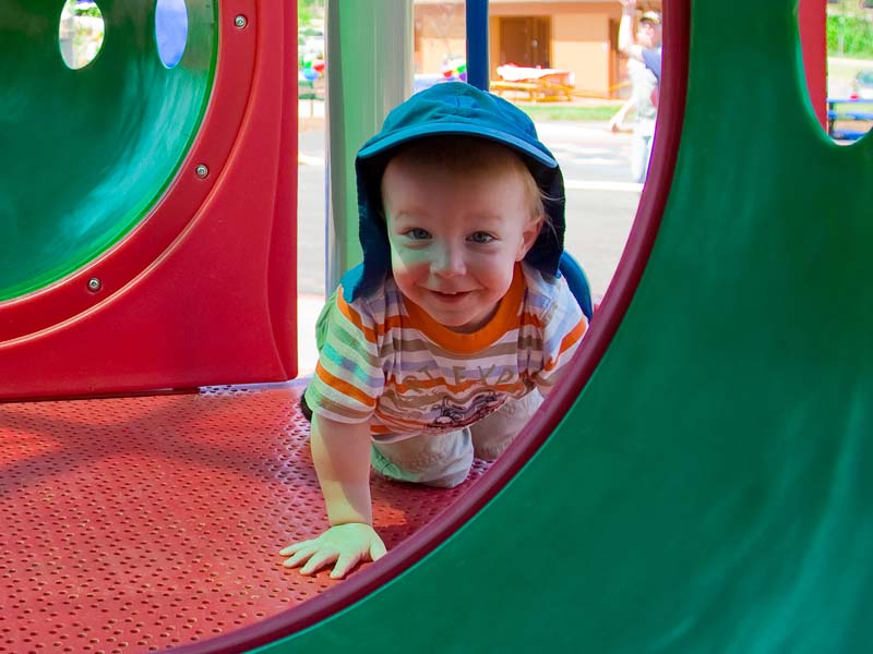
[[[511,147],[478,136],[449,134],[418,138],[396,150],[392,159],[412,166],[431,166],[452,173],[482,171],[515,174],[523,185],[531,220],[542,220],[551,228],[546,214],[547,199],[524,159]]]

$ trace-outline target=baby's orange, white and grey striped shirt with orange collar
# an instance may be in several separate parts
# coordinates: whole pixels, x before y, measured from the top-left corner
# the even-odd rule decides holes
[[[588,328],[566,281],[527,264],[473,334],[433,320],[392,278],[351,303],[340,288],[325,311],[307,403],[338,422],[370,421],[385,441],[458,429],[534,388],[548,395]]]

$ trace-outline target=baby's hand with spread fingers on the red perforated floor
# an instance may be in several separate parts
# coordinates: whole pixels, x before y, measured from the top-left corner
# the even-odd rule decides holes
[[[287,568],[300,568],[300,574],[314,574],[336,561],[332,579],[342,579],[360,561],[374,561],[385,556],[385,544],[372,526],[359,522],[337,524],[318,538],[288,545],[279,550],[282,556],[289,556],[283,565]]]

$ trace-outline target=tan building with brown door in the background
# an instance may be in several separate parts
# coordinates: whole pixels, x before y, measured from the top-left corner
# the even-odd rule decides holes
[[[638,2],[660,11],[661,2]],[[464,58],[464,0],[414,0],[417,73],[439,73]],[[491,0],[489,37],[491,78],[498,68],[516,64],[573,73],[582,94],[626,95],[625,62],[618,51],[618,0]]]

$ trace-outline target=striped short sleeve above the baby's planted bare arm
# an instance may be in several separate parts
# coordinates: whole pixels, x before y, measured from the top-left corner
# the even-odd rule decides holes
[[[379,315],[363,300],[347,303],[342,288],[319,318],[319,363],[307,388],[312,413],[342,423],[370,420],[384,389]]]

